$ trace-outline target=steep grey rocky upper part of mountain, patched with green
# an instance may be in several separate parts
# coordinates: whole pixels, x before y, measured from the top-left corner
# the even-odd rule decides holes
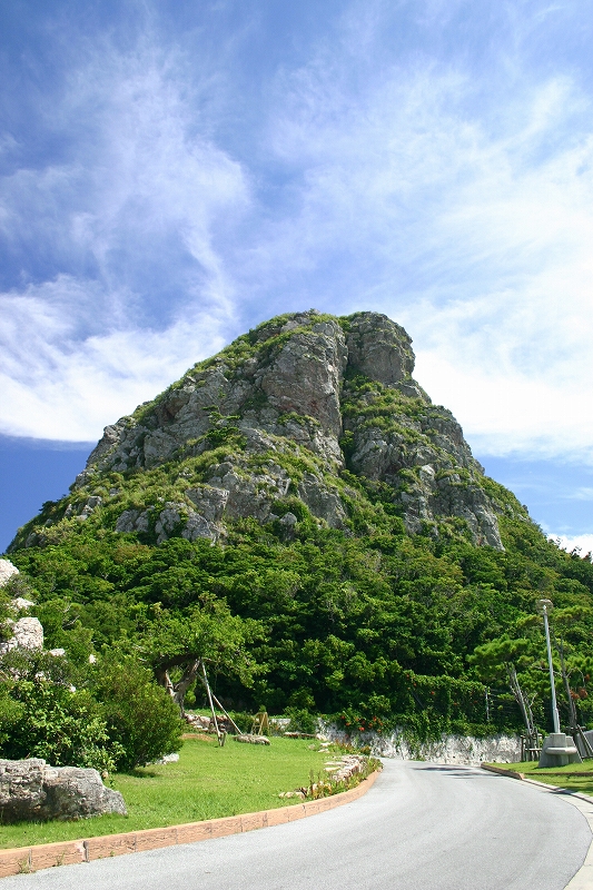
[[[488,494],[461,426],[413,370],[411,338],[384,315],[274,318],[106,427],[71,495],[11,547],[81,521],[157,544],[224,540],[246,517],[352,531],[373,504],[411,533],[502,548],[497,513],[514,507]]]

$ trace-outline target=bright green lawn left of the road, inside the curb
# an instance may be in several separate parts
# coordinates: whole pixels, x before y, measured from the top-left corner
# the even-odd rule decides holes
[[[312,750],[314,749],[314,750]],[[271,810],[298,802],[278,798],[308,784],[309,772],[323,772],[327,752],[310,739],[271,739],[269,746],[227,739],[187,739],[178,763],[145,767],[132,775],[112,777],[128,815],[101,815],[77,822],[21,822],[0,825],[0,849],[33,843],[161,828],[223,815]]]

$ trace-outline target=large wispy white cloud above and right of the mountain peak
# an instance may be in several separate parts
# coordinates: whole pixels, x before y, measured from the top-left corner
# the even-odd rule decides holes
[[[293,207],[254,268],[278,304],[296,278],[405,324],[482,451],[593,461],[590,98],[523,72],[486,113],[483,83],[434,60],[363,82],[367,50],[324,47],[283,83],[270,144]]]

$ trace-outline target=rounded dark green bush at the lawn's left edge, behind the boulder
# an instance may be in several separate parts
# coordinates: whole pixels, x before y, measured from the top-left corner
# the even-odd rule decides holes
[[[131,657],[102,657],[96,665],[95,696],[101,704],[118,770],[132,770],[179,751],[179,710],[151,672]]]

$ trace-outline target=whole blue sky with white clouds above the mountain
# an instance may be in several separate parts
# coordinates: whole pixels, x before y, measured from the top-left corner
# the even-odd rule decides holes
[[[280,312],[384,312],[593,548],[593,0],[4,4],[0,547]]]

